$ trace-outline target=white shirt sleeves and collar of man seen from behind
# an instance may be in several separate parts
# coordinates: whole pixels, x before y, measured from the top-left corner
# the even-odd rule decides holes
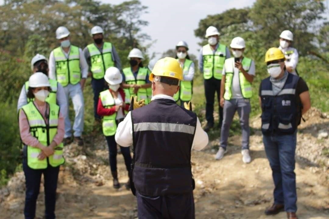
[[[153,96],[151,100],[155,99],[171,99],[175,101],[172,97],[162,94]],[[131,112],[129,112],[126,118],[119,123],[115,133],[115,141],[122,147],[129,147],[130,145],[133,145],[133,124],[131,121]],[[202,150],[208,144],[208,141],[208,135],[201,128],[200,120],[197,118],[192,149],[198,151]]]

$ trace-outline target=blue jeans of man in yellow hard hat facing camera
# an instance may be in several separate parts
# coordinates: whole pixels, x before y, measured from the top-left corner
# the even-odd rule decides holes
[[[296,133],[263,135],[266,157],[272,169],[274,204],[283,204],[285,211],[297,211],[295,149]]]

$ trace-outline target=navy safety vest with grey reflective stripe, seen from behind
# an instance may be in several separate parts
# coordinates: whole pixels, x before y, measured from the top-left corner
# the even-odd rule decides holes
[[[131,115],[136,190],[150,196],[191,192],[196,114],[173,100],[156,99]]]

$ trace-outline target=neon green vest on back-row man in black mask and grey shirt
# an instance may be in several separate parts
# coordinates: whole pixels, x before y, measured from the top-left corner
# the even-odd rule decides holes
[[[90,54],[90,71],[92,77],[101,79],[104,77],[106,69],[114,66],[114,61],[112,60],[112,43],[104,42],[102,52],[99,51],[94,43],[89,44],[87,48]]]

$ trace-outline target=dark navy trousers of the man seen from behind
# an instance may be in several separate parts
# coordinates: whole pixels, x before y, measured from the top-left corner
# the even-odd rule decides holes
[[[193,192],[145,196],[136,192],[138,218],[143,219],[194,219]]]

